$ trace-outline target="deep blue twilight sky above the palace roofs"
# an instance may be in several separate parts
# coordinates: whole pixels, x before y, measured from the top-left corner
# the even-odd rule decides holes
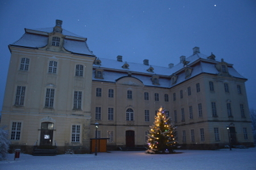
[[[256,109],[256,1],[254,0],[1,0],[0,1],[0,109],[10,62],[8,45],[20,39],[24,28],[48,28],[55,20],[63,28],[87,37],[100,58],[175,65],[192,48],[212,52],[233,63],[247,78],[249,108]]]

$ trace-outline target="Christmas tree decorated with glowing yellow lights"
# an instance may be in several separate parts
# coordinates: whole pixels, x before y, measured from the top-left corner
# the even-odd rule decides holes
[[[155,116],[155,121],[150,126],[148,133],[148,150],[149,154],[165,154],[174,152],[175,145],[175,126],[171,123],[171,118],[166,115],[163,107],[160,107]]]

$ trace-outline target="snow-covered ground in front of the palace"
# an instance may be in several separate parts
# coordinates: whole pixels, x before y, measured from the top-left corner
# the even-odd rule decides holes
[[[4,170],[50,169],[218,169],[255,170],[256,148],[222,149],[216,151],[176,150],[181,154],[145,154],[143,151],[112,151],[82,155],[32,156],[14,154],[0,161]]]

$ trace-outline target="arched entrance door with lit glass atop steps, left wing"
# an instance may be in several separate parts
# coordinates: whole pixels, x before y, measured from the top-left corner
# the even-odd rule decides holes
[[[41,124],[40,145],[52,145],[53,123],[43,122]]]

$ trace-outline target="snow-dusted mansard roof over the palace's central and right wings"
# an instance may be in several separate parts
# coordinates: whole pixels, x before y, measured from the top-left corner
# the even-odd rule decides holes
[[[162,67],[162,66],[153,66],[153,65],[144,65],[142,63],[133,63],[133,62],[120,62],[113,59],[97,58],[101,61],[100,65],[94,63],[94,69],[102,69],[103,78],[95,78],[95,73],[93,73],[93,80],[100,80],[102,82],[116,82],[118,78],[122,76],[127,76],[128,73],[131,73],[131,76],[142,81],[145,86],[155,86],[155,87],[164,87],[170,88],[176,86],[179,83],[184,82],[189,78],[193,78],[196,75],[201,73],[214,74],[218,75],[219,72],[216,69],[216,63],[219,63],[220,60],[209,59],[209,56],[201,54],[200,52],[194,53],[192,56],[185,58],[187,65],[184,65],[184,62],[180,62],[172,68]],[[129,65],[129,69],[125,69],[123,65]],[[150,67],[154,68],[154,72],[147,71]],[[192,73],[189,78],[185,77],[184,69],[192,68]],[[232,65],[228,64],[229,74],[236,78],[245,79],[240,75]],[[159,76],[159,85],[153,84],[151,77],[153,75]],[[172,85],[171,76],[178,75],[176,83]]]

